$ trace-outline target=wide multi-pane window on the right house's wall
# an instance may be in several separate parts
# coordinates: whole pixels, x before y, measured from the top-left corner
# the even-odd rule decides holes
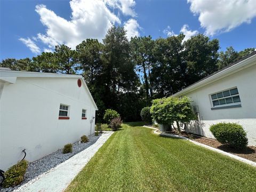
[[[237,87],[211,94],[212,109],[241,107]]]

